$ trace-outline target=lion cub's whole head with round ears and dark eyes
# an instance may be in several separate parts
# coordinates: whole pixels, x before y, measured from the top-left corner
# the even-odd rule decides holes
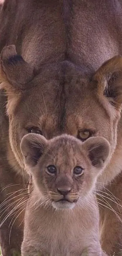
[[[28,134],[20,148],[36,193],[44,203],[48,201],[57,209],[73,208],[78,201],[83,203],[110,153],[104,138],[81,142],[70,135],[47,140]]]

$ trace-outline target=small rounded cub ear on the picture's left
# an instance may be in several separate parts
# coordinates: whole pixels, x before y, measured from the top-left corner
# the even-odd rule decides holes
[[[27,134],[22,138],[20,149],[28,167],[34,167],[38,163],[47,144],[44,136],[35,133]]]

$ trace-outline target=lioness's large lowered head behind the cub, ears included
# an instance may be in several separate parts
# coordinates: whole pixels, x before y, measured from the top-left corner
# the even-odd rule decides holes
[[[121,70],[122,58],[114,57],[96,73],[68,61],[45,64],[37,73],[15,46],[5,46],[0,87],[8,96],[9,138],[19,164],[23,166],[21,139],[30,132],[46,139],[66,133],[81,141],[102,136],[110,143],[111,158],[121,112]],[[103,172],[103,183],[117,172]]]

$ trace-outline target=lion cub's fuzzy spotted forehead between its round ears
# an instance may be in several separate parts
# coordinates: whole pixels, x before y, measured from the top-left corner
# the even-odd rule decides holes
[[[48,146],[43,155],[46,166],[54,164],[59,171],[73,170],[75,166],[87,167],[88,157],[82,149],[82,142],[77,138],[63,134],[48,140]],[[41,159],[40,159],[41,164]]]

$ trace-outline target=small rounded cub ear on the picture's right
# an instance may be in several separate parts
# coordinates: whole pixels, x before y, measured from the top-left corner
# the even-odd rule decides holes
[[[102,137],[92,137],[83,142],[83,148],[87,151],[91,163],[96,168],[104,168],[110,154],[110,144]]]

